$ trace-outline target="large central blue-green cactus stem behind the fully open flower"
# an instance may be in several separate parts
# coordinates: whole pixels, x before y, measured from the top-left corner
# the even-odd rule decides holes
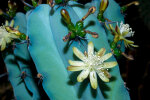
[[[70,2],[70,4],[75,4],[75,2]],[[91,6],[91,4],[89,5]],[[85,15],[88,8],[90,8],[89,5],[85,6],[84,9],[65,7],[70,14],[73,24]],[[30,38],[29,51],[36,64],[38,73],[41,73],[44,77],[42,84],[48,96],[52,100],[129,100],[129,94],[124,87],[118,66],[110,71],[114,80],[112,78],[109,83],[100,82],[101,89],[98,88],[97,90],[91,89],[89,80],[77,83],[76,76],[78,73],[67,72],[68,60],[76,59],[73,56],[72,47],[75,46],[85,51],[86,43],[80,45],[78,42],[73,42],[68,46],[62,41],[62,37],[68,32],[61,21],[60,11],[62,8],[59,7],[53,15],[50,15],[50,7],[48,5],[40,5],[29,15],[27,25]],[[111,52],[105,29],[96,17],[94,15],[89,16],[84,24],[87,25],[86,29],[99,33],[100,37],[98,39],[87,35],[88,40],[94,42],[95,49],[106,48],[107,52]],[[110,60],[115,61],[115,58]],[[106,86],[109,90],[104,88]],[[106,97],[104,96],[105,98],[102,92],[106,95]]]

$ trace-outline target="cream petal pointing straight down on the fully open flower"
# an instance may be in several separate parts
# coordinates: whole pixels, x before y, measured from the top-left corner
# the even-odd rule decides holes
[[[97,88],[97,76],[95,71],[90,72],[90,83],[93,89]]]

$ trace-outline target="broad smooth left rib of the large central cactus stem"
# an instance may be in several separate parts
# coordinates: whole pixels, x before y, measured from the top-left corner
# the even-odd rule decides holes
[[[74,87],[68,84],[69,76],[52,36],[50,10],[49,5],[42,4],[29,15],[27,21],[29,51],[38,73],[43,76],[42,85],[49,98],[78,100]],[[60,30],[60,27],[57,26],[56,29]]]

